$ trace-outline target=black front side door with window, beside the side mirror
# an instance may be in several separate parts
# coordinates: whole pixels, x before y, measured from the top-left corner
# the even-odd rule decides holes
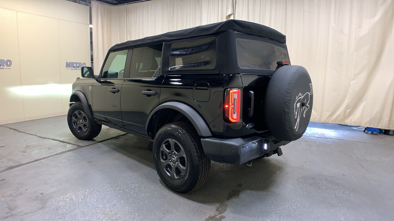
[[[111,52],[100,76],[92,85],[93,116],[117,127],[123,127],[121,114],[121,87],[125,78],[128,50]]]

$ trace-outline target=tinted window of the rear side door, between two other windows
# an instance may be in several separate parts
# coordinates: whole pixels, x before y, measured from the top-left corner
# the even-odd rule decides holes
[[[134,48],[131,55],[130,78],[153,77],[162,60],[163,44]]]

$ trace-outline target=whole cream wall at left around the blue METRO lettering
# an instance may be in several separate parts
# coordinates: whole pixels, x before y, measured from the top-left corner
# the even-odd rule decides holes
[[[80,70],[65,63],[90,66],[89,7],[65,0],[0,0],[0,22],[0,60],[12,60],[11,69],[0,69],[6,79],[0,101],[10,103],[1,107],[0,124],[66,114]]]

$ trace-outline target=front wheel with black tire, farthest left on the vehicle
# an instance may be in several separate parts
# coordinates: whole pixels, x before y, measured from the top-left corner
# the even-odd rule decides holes
[[[75,102],[71,105],[67,113],[67,123],[71,133],[80,140],[91,140],[101,131],[101,124],[85,114],[81,102]]]

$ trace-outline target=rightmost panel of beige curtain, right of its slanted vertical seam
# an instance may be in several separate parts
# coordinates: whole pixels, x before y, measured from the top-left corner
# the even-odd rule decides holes
[[[394,129],[394,1],[359,0],[346,122]]]

